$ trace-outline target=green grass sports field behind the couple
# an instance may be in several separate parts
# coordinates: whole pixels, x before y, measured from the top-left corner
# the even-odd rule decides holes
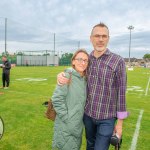
[[[8,90],[0,89],[0,116],[5,123],[5,133],[0,140],[0,150],[50,150],[53,122],[44,118],[46,108],[42,103],[52,95],[57,73],[65,67],[15,67],[11,69]],[[1,70],[0,70],[1,73]],[[136,150],[150,150],[150,70],[136,68],[127,71],[127,107],[130,112],[124,121],[122,150],[132,144]],[[0,82],[1,83],[1,82]],[[148,84],[149,83],[149,84]],[[137,144],[133,139],[138,129],[138,118],[143,110]],[[85,150],[85,135],[81,150]],[[135,146],[133,146],[135,147]],[[110,150],[113,150],[110,147]]]

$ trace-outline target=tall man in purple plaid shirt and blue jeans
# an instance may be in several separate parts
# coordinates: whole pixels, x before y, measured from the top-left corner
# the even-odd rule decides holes
[[[93,27],[90,40],[94,50],[87,70],[87,100],[83,118],[86,150],[108,150],[113,132],[121,138],[123,119],[128,116],[126,68],[124,59],[107,48],[109,29],[105,24]],[[67,82],[59,76],[60,83]]]

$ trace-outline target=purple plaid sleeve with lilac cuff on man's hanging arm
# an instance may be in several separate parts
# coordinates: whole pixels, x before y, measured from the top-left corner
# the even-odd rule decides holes
[[[117,87],[118,87],[118,100],[117,100],[117,118],[124,119],[128,116],[126,111],[126,67],[122,59],[119,63],[117,71]]]

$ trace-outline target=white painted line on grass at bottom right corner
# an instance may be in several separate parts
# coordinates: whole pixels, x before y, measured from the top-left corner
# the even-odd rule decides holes
[[[138,136],[139,136],[139,131],[140,131],[140,125],[141,125],[141,120],[142,120],[142,115],[143,115],[144,110],[142,109],[140,111],[137,123],[136,123],[136,129],[132,138],[132,143],[131,143],[131,147],[129,150],[136,150],[136,145],[137,145],[137,140],[138,140]]]

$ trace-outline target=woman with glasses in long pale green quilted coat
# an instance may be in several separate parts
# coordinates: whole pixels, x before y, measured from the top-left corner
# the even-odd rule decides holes
[[[53,150],[80,150],[83,114],[86,101],[86,68],[88,53],[80,49],[72,57],[72,68],[66,69],[68,85],[57,85],[52,103],[57,113],[54,125]]]

